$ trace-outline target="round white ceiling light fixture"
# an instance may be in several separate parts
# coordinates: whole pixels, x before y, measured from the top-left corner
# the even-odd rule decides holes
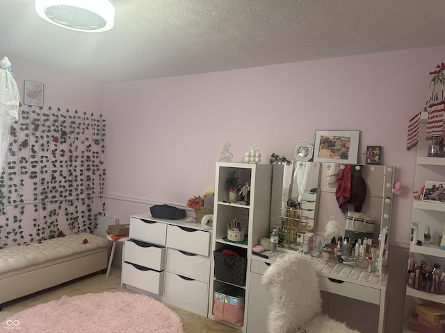
[[[114,26],[115,9],[109,0],[35,0],[42,19],[63,28],[99,33]]]

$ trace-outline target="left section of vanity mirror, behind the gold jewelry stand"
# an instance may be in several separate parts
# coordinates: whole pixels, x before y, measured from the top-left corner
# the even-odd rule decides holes
[[[282,246],[298,249],[301,234],[316,228],[321,163],[273,166],[270,228],[282,234]]]

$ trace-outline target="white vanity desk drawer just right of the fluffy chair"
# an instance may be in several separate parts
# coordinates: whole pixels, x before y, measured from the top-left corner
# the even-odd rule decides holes
[[[318,276],[320,290],[328,293],[336,293],[337,295],[346,296],[350,298],[357,298],[360,295],[366,302],[380,305],[380,289],[362,286],[346,281],[331,281],[325,276]]]

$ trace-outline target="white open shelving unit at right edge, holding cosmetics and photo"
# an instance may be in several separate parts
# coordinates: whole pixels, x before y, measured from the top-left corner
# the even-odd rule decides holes
[[[422,112],[419,130],[419,144],[417,146],[416,175],[414,180],[414,190],[419,191],[426,185],[427,181],[444,182],[445,184],[445,157],[428,157],[428,142],[426,137],[427,112]],[[440,264],[445,268],[445,250],[439,248],[438,239],[444,230],[445,203],[430,202],[424,200],[414,200],[412,205],[412,222],[419,222],[419,240],[424,241],[423,233],[427,225],[431,229],[431,243],[421,246],[410,244],[410,252],[414,253],[416,262],[425,259],[429,264]],[[412,317],[416,303],[438,302],[445,304],[445,294],[438,295],[420,291],[410,286],[406,286],[405,293],[405,318],[403,332],[411,333],[407,323]]]

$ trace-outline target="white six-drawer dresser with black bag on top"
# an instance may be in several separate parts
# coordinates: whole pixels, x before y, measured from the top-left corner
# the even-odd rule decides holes
[[[130,239],[122,256],[122,284],[127,289],[207,316],[211,232],[200,223],[130,218]]]

